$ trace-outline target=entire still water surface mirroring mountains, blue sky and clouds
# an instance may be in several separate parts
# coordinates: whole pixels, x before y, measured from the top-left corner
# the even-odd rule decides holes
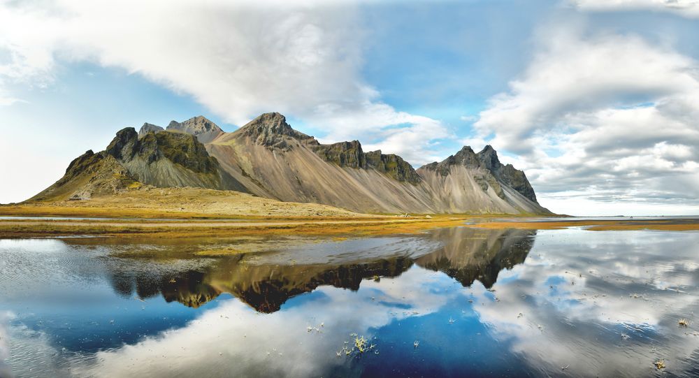
[[[178,248],[0,240],[0,377],[699,375],[699,233]]]

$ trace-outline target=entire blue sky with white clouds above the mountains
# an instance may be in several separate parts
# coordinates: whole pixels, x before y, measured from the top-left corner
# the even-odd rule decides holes
[[[699,214],[699,0],[0,0],[0,203],[115,132],[277,111],[570,215]]]

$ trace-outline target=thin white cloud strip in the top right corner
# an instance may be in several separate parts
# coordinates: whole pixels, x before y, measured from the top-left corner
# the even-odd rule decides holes
[[[684,17],[699,17],[697,0],[572,0],[582,10],[655,10]]]

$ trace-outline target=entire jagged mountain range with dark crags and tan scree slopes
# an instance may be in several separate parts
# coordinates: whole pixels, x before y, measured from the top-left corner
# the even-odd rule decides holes
[[[357,140],[319,143],[277,112],[232,133],[202,116],[166,128],[127,127],[106,150],[73,160],[29,202],[87,200],[143,185],[241,191],[354,212],[551,214],[524,172],[500,163],[491,146],[477,153],[463,147],[416,170],[398,155],[364,152]]]

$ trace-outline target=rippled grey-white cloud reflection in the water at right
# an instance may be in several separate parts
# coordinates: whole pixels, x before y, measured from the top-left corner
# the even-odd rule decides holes
[[[696,277],[699,234],[591,232],[540,231],[526,262],[493,286],[500,302],[475,293],[481,321],[542,375],[568,366],[572,375],[637,377],[653,374],[658,358],[670,372],[696,363],[680,361],[699,347],[696,327],[677,320],[699,312],[697,293],[661,286]]]

